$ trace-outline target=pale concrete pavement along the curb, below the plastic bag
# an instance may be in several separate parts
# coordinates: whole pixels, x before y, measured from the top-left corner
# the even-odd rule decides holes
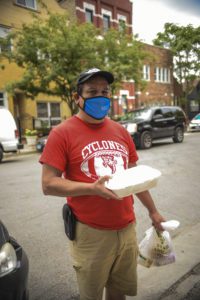
[[[127,300],[200,299],[200,223],[172,239],[176,262],[149,269],[138,266],[138,296]]]

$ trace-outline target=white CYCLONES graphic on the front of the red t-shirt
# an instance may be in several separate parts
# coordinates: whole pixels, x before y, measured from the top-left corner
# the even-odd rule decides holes
[[[100,176],[113,175],[127,169],[128,151],[114,141],[95,141],[82,150],[81,171],[96,180]]]

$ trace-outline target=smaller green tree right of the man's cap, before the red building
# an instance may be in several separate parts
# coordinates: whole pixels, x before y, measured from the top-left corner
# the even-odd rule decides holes
[[[132,35],[115,29],[106,31],[102,36],[99,58],[101,64],[114,74],[113,89],[118,89],[123,81],[131,79],[135,84],[143,85],[142,65],[147,53],[142,44]]]

